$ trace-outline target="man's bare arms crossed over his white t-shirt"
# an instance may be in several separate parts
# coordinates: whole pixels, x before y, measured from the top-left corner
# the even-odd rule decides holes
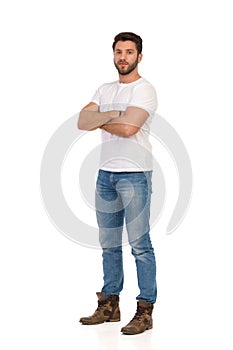
[[[139,131],[148,115],[144,109],[132,106],[122,113],[116,110],[99,112],[98,105],[90,102],[79,113],[78,128],[88,131],[101,128],[117,136],[129,137]]]

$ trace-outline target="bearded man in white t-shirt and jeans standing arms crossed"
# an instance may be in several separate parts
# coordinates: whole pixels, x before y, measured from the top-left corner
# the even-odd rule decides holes
[[[96,183],[96,215],[102,247],[104,285],[86,325],[120,321],[119,295],[123,289],[122,232],[125,222],[135,258],[138,287],[137,311],[121,329],[138,334],[152,328],[156,301],[156,263],[150,240],[152,155],[148,140],[157,108],[153,86],[138,73],[142,39],[124,32],[113,43],[119,81],[103,84],[82,109],[78,128],[102,130],[100,170]]]

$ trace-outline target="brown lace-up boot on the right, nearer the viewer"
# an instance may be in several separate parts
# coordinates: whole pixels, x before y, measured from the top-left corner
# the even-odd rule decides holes
[[[153,327],[152,311],[153,304],[144,300],[137,303],[137,311],[132,320],[121,329],[123,334],[139,334]]]

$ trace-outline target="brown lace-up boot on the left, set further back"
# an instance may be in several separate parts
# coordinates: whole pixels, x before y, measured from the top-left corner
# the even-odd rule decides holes
[[[85,325],[94,325],[104,322],[120,321],[119,296],[110,295],[107,299],[105,293],[96,293],[98,307],[94,314],[89,317],[81,317],[80,322]]]

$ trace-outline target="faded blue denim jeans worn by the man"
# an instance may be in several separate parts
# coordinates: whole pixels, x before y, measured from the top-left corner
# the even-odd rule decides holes
[[[96,183],[96,216],[103,249],[106,297],[123,289],[122,232],[125,223],[128,242],[135,258],[137,300],[155,303],[156,263],[150,240],[151,171],[109,172],[99,170]]]

